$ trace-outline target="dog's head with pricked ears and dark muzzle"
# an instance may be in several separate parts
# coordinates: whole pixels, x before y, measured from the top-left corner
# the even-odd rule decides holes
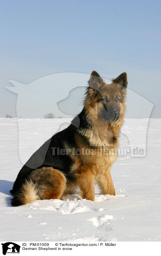
[[[117,122],[125,111],[127,74],[122,73],[107,85],[96,71],[91,73],[85,98],[89,120]]]

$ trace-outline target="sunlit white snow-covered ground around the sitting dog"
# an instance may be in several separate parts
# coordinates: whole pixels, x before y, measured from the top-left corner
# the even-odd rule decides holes
[[[22,162],[70,119],[18,122],[0,118],[0,240],[161,241],[161,119],[149,120],[145,157],[119,156],[113,165],[116,196],[102,195],[96,186],[95,202],[76,193],[66,201],[37,200],[11,207],[9,190]],[[123,130],[135,134],[138,147],[144,144],[140,134],[146,124],[146,119],[124,122]],[[120,142],[128,147],[124,134]]]

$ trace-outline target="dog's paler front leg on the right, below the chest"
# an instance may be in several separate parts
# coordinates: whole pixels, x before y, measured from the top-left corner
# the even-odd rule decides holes
[[[99,175],[99,177],[97,178],[97,183],[101,188],[102,194],[104,195],[109,194],[109,195],[115,196],[116,193],[115,193],[114,184],[112,182],[110,170],[111,170],[111,165],[107,167],[104,173]]]

